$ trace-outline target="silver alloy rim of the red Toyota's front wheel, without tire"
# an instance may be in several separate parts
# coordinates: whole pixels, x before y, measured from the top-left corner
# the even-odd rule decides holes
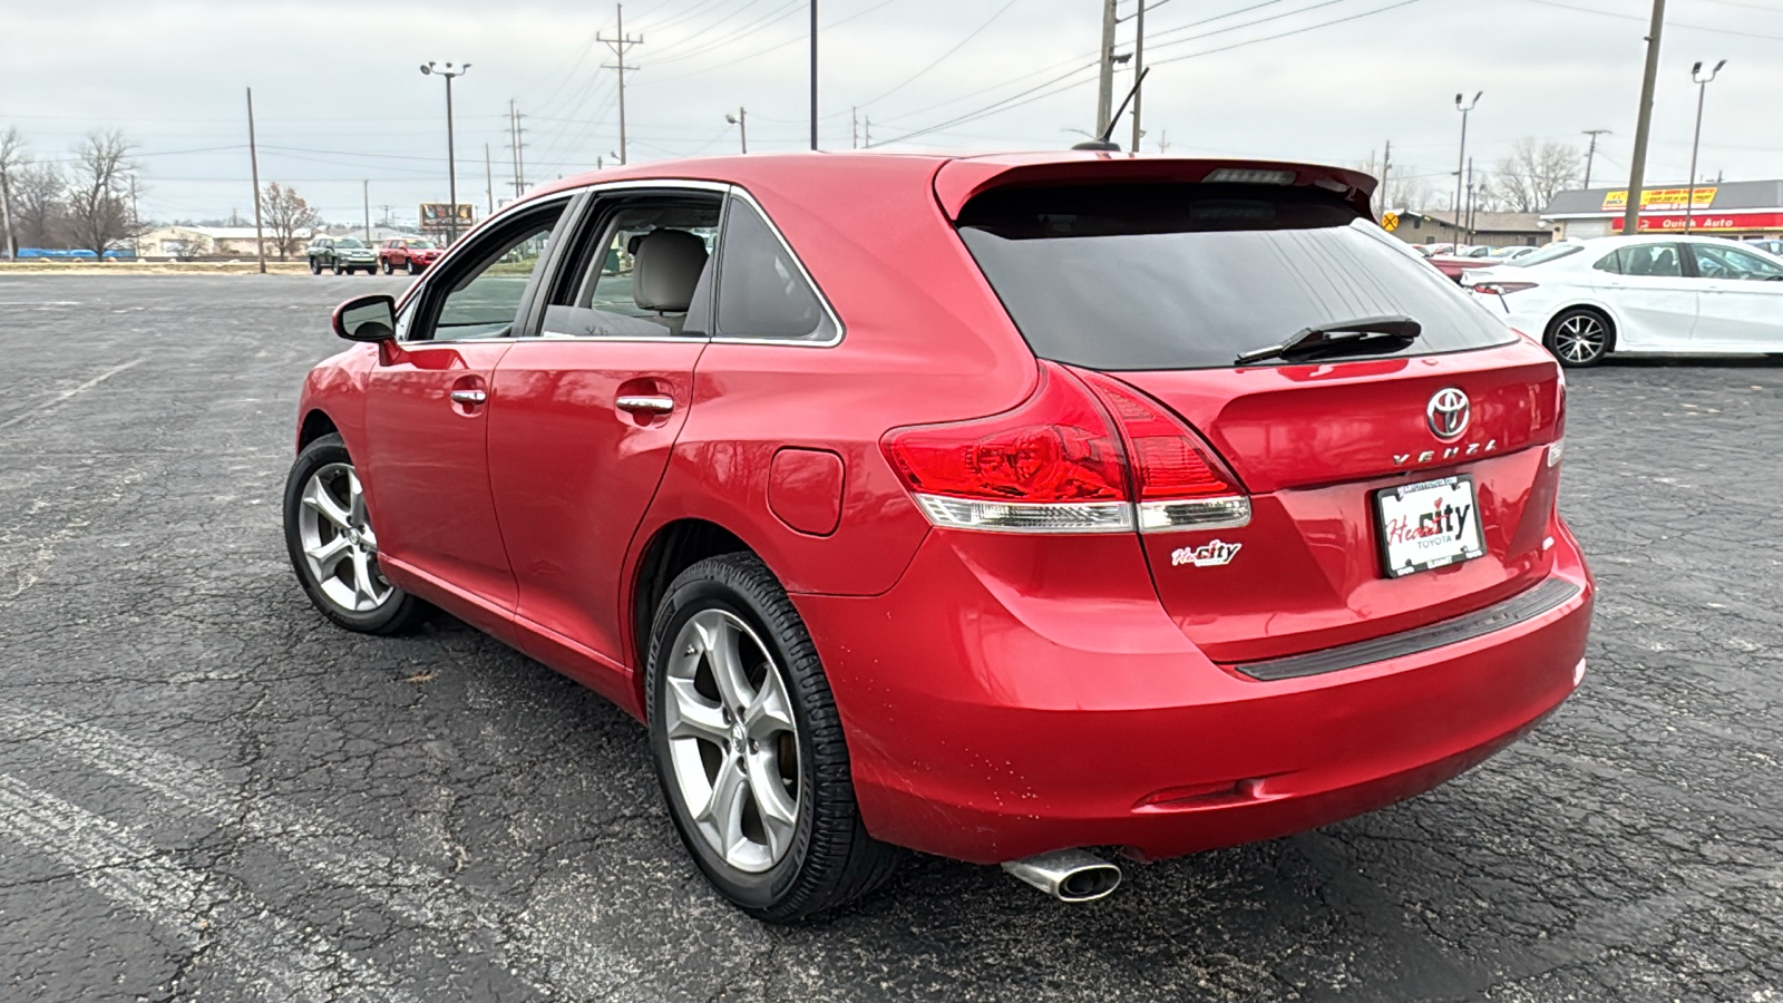
[[[328,601],[371,612],[394,587],[378,569],[378,535],[366,516],[366,493],[349,464],[328,464],[303,485],[298,537],[310,575]]]

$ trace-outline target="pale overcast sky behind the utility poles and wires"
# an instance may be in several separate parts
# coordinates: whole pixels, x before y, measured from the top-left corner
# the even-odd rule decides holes
[[[1122,0],[1130,52],[1139,0]],[[1100,0],[820,0],[818,130],[827,150],[1034,150],[1095,123]],[[1451,191],[1460,114],[1483,175],[1519,137],[1585,146],[1594,182],[1624,182],[1646,0],[1148,0],[1143,148],[1359,164]],[[633,0],[624,7],[631,162],[808,145],[808,0]],[[508,107],[528,180],[594,170],[619,150],[613,5],[587,0],[0,0],[0,128],[37,159],[91,130],[136,145],[141,214],[251,214],[244,89],[260,180],[326,220],[414,221],[444,202],[453,84],[458,198],[478,216],[514,193]],[[1699,175],[1783,177],[1783,0],[1671,0],[1647,161],[1683,182],[1697,87]],[[1116,73],[1116,95],[1132,75]],[[1122,120],[1116,139],[1127,145]],[[485,145],[492,168],[485,173]],[[492,175],[492,186],[489,184]],[[1432,207],[1442,207],[1437,196]]]

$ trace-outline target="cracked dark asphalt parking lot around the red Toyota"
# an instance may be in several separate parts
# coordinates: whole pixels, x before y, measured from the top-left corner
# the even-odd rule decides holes
[[[1571,377],[1590,673],[1453,783],[1098,905],[915,858],[767,928],[629,717],[292,582],[300,378],[403,282],[0,277],[0,998],[1783,1001],[1783,364]]]

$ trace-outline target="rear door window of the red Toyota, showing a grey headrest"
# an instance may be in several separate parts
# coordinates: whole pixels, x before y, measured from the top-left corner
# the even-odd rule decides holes
[[[558,269],[544,337],[706,337],[715,191],[608,195]]]

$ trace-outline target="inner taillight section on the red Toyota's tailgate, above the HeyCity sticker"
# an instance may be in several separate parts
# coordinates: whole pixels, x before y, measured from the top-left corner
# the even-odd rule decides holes
[[[1195,428],[1113,377],[1077,375],[1120,427],[1132,460],[1141,532],[1221,530],[1250,523],[1250,496]]]

